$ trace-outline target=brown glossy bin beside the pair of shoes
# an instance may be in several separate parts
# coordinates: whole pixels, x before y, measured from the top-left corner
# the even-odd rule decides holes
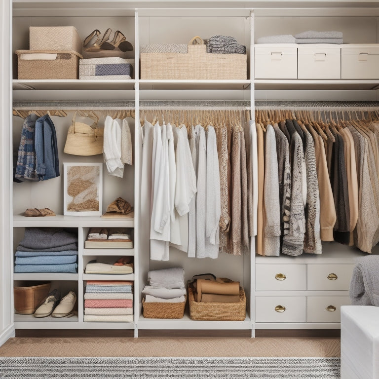
[[[13,287],[14,311],[19,314],[32,314],[49,293],[51,283],[26,287]]]

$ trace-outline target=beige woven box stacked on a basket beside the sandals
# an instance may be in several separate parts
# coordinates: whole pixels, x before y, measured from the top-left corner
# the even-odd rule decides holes
[[[81,54],[82,42],[75,26],[30,26],[31,50],[65,50]]]

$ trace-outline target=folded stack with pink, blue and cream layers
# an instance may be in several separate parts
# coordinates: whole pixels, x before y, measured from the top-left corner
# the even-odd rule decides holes
[[[88,280],[85,322],[133,322],[133,282]]]

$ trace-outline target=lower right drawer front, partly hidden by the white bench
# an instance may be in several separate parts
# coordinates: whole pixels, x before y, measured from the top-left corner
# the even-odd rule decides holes
[[[350,305],[348,296],[308,296],[307,322],[341,322],[341,305]]]

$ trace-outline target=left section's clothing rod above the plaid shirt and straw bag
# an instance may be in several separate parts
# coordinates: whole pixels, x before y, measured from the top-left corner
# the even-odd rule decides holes
[[[13,109],[17,111],[32,111],[46,109],[62,109],[75,111],[77,109],[87,111],[107,110],[134,110],[134,101],[14,101]]]

